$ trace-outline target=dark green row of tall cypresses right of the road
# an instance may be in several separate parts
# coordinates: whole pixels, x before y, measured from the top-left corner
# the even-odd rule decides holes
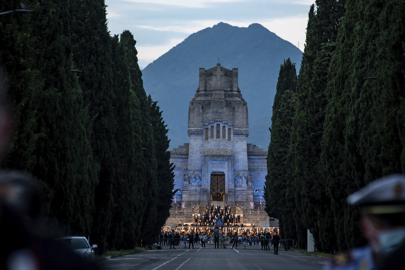
[[[289,59],[280,68],[265,198],[283,238],[304,248],[309,229],[333,253],[364,244],[346,197],[405,172],[405,4],[315,4],[298,78]]]

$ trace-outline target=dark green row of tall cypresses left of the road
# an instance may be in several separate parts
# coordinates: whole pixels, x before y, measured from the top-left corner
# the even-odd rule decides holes
[[[143,89],[136,41],[111,37],[104,0],[31,0],[0,16],[14,140],[5,168],[43,184],[51,219],[107,249],[160,232],[173,167],[162,112]],[[0,11],[19,9],[0,2]],[[77,75],[70,70],[81,70]]]

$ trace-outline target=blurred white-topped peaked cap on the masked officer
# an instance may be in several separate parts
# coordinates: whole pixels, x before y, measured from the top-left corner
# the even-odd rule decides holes
[[[391,174],[370,182],[347,197],[349,204],[362,207],[364,213],[405,212],[405,176]]]

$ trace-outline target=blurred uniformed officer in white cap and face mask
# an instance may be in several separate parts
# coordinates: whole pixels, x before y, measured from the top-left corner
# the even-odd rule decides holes
[[[405,176],[372,181],[347,197],[360,206],[367,246],[336,255],[325,269],[405,269]]]

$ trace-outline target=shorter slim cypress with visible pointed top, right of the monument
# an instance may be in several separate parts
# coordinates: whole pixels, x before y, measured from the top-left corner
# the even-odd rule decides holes
[[[290,58],[280,67],[271,118],[271,142],[267,154],[264,198],[266,212],[279,220],[282,238],[296,238],[292,209],[287,206],[286,157],[290,148],[292,119],[295,113],[296,69]]]

